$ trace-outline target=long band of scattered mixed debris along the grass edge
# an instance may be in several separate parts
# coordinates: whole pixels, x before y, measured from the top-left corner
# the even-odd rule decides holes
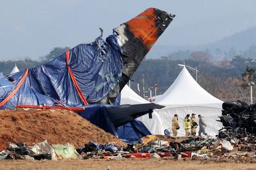
[[[142,143],[118,146],[115,143],[100,145],[90,141],[75,149],[73,145],[49,145],[43,141],[34,146],[26,143],[8,143],[6,150],[0,152],[3,159],[60,160],[60,159],[174,159],[202,160],[214,162],[256,162],[255,142],[252,138],[237,139],[234,136],[225,139],[206,136],[191,138],[172,138],[166,135],[152,135],[141,138]],[[245,141],[250,145],[246,145]],[[247,143],[247,144],[248,144]]]

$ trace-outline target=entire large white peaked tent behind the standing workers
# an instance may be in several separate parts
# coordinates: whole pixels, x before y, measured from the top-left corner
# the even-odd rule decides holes
[[[178,135],[184,134],[184,117],[192,113],[196,113],[197,120],[198,115],[204,117],[207,124],[205,131],[210,135],[218,134],[218,130],[222,127],[222,124],[216,120],[219,120],[218,116],[221,115],[223,101],[200,87],[186,67],[182,68],[173,84],[155,103],[166,106],[161,110],[157,110],[161,117],[163,129],[170,129],[173,115],[177,114],[179,116],[180,130]]]

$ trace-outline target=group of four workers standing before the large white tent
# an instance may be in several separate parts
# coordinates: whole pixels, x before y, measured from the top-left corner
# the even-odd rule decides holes
[[[186,117],[184,118],[184,129],[185,129],[185,135],[186,138],[188,138],[189,136],[196,136],[196,129],[199,125],[199,131],[198,131],[198,136],[201,136],[201,134],[207,135],[207,133],[205,132],[205,127],[206,124],[204,122],[204,119],[201,115],[198,115],[198,123],[196,121],[196,114],[192,113],[191,118],[190,115],[186,115]],[[180,129],[179,126],[179,120],[178,120],[178,115],[175,114],[173,119],[172,119],[172,132],[173,132],[173,136],[176,137],[178,134],[178,130]]]

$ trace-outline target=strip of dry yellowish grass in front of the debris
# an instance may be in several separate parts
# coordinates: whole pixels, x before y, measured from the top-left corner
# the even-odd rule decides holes
[[[207,163],[193,160],[117,159],[117,160],[4,160],[0,169],[256,169],[256,164]]]

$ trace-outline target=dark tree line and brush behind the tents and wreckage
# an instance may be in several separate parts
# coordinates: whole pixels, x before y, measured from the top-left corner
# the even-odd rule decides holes
[[[0,72],[9,74],[15,63],[20,71],[39,66],[62,53],[69,50],[69,47],[55,47],[41,60],[8,60],[0,62]],[[137,84],[142,90],[142,74],[145,90],[152,89],[158,85],[157,94],[163,94],[177,78],[183,64],[198,69],[198,83],[210,94],[219,99],[241,99],[249,96],[248,81],[255,81],[256,60],[235,55],[232,59],[216,59],[205,51],[191,52],[188,59],[172,59],[161,57],[159,59],[145,59],[141,62],[137,71],[131,78],[131,88],[138,92]],[[189,70],[195,78],[195,72]],[[255,87],[253,87],[255,90]],[[149,96],[149,94],[146,94]]]

